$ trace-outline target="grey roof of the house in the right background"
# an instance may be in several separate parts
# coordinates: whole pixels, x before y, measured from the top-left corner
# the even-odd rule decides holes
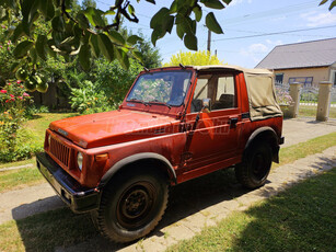
[[[326,67],[336,62],[336,38],[276,46],[256,68]]]

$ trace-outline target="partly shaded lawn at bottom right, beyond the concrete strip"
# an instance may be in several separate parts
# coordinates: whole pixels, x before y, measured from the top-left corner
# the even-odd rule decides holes
[[[336,168],[167,251],[331,251],[336,248]]]

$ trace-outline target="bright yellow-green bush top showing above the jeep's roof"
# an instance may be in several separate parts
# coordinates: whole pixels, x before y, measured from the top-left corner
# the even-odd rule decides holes
[[[199,51],[179,51],[176,55],[173,55],[170,59],[170,62],[164,64],[164,67],[169,66],[178,66],[183,64],[185,66],[206,66],[206,65],[223,65],[223,61],[219,60],[216,55],[211,55],[207,50]]]

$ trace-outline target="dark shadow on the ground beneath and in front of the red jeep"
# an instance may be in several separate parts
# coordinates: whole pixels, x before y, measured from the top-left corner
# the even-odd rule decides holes
[[[164,236],[161,231],[164,227],[247,192],[237,184],[233,169],[174,186],[162,221],[146,239]],[[26,209],[54,204],[53,201],[56,198],[19,206],[12,211],[14,219]],[[16,226],[26,251],[116,251],[135,243],[115,244],[108,241],[96,231],[89,214],[76,215],[67,207],[18,219]]]

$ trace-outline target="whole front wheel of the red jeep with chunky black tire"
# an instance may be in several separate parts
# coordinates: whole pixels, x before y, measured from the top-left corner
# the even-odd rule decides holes
[[[114,242],[130,242],[154,229],[162,219],[167,197],[167,181],[162,174],[134,172],[109,183],[100,209],[91,216],[105,237]]]

